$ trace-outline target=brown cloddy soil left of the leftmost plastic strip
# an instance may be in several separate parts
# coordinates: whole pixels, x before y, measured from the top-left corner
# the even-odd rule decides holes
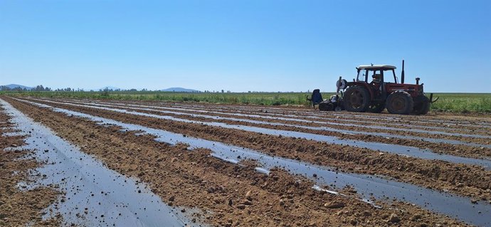
[[[13,131],[4,127],[12,125],[0,108],[0,134]],[[59,192],[48,187],[18,186],[29,181],[30,169],[41,165],[35,159],[21,159],[29,151],[10,150],[22,144],[23,137],[0,137],[0,226],[58,226],[60,217],[43,220],[41,216],[56,201]]]

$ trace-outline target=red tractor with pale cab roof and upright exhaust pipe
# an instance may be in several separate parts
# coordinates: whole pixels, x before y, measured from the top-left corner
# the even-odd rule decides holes
[[[425,115],[433,101],[423,93],[423,84],[404,83],[404,60],[402,61],[401,83],[393,65],[360,65],[357,79],[347,82],[339,78],[338,92],[344,90],[343,105],[349,112],[382,112],[385,108],[392,114]],[[394,77],[394,82],[386,79]],[[438,100],[438,98],[437,98]]]

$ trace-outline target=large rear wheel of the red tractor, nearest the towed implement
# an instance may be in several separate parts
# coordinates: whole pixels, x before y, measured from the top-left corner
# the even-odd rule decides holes
[[[370,105],[370,93],[361,86],[349,87],[344,93],[344,109],[349,112],[365,112]]]

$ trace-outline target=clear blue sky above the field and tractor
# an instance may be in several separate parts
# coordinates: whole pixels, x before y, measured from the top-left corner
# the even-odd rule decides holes
[[[0,85],[335,90],[391,64],[491,93],[491,1],[0,0]]]

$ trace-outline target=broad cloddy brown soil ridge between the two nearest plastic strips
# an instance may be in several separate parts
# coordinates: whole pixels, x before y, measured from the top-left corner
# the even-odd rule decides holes
[[[280,169],[273,169],[269,175],[260,174],[250,162],[239,166],[210,157],[204,149],[189,152],[184,144],[170,147],[153,137],[9,102],[111,169],[148,182],[167,203],[209,211],[196,214],[197,221],[216,226],[463,224],[401,202],[374,208],[354,199],[314,191],[308,179]]]

